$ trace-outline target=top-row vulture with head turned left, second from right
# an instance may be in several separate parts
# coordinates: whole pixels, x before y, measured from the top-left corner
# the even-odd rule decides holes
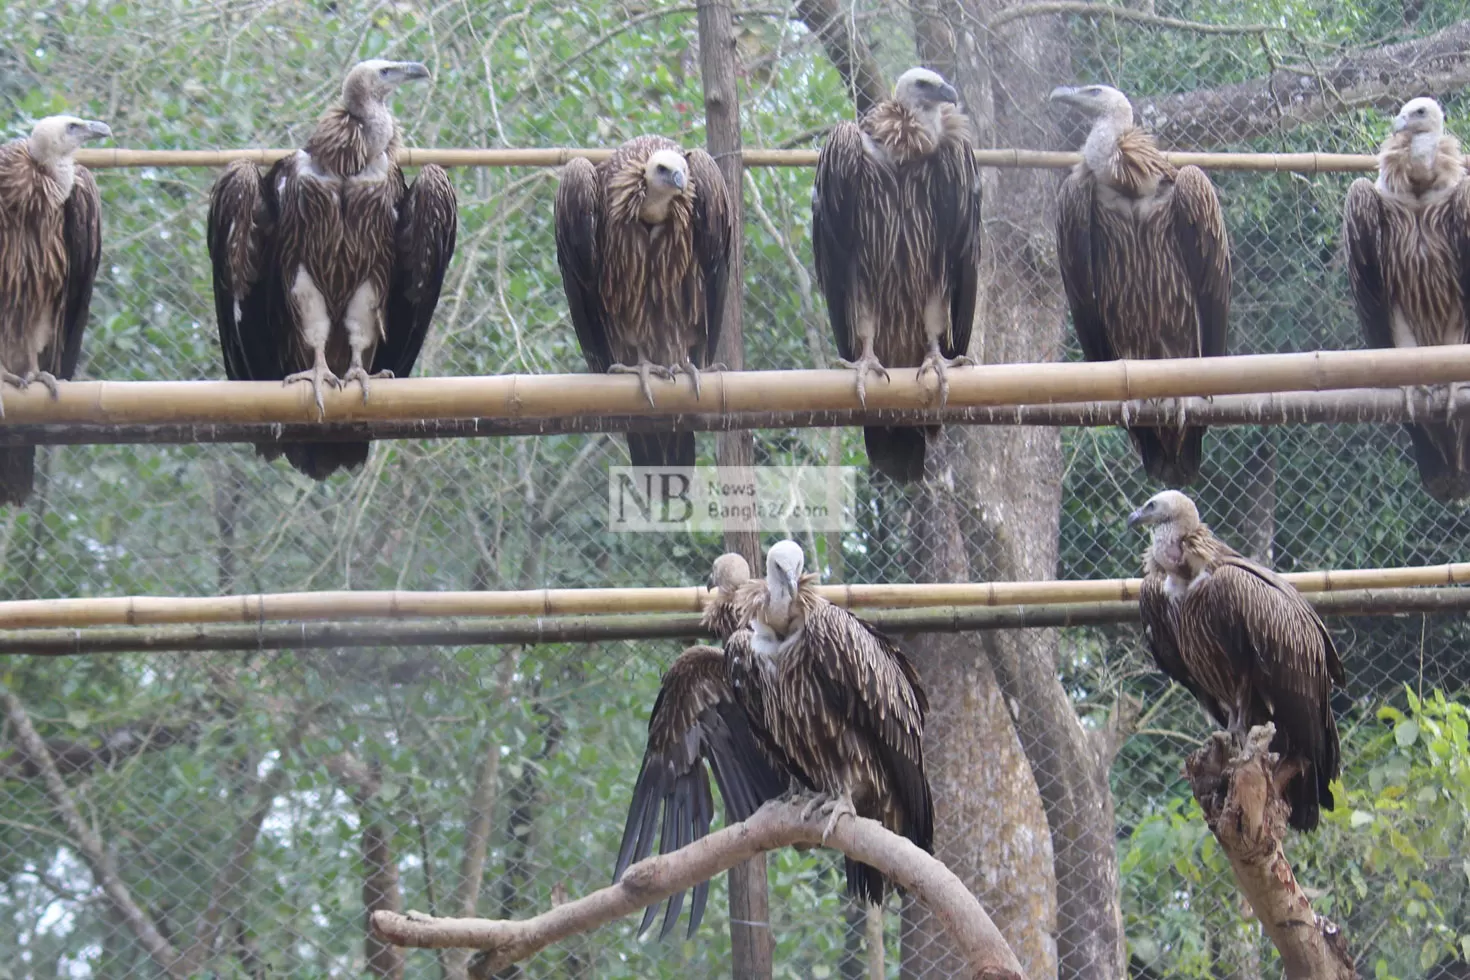
[[[1092,119],[1057,200],[1057,263],[1089,361],[1226,353],[1230,245],[1214,185],[1175,167],[1107,85],[1051,100]],[[1129,426],[1144,470],[1166,486],[1200,475],[1204,426]]]

